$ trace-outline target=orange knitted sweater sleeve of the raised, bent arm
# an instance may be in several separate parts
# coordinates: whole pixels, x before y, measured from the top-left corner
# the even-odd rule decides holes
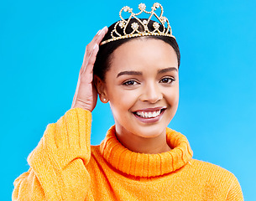
[[[14,181],[13,200],[82,200],[90,186],[91,112],[71,109],[44,131],[29,171]]]

